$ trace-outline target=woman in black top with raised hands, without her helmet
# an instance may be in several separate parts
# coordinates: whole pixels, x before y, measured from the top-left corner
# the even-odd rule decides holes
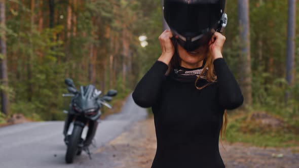
[[[172,42],[179,38],[173,32],[160,35],[162,54],[133,92],[137,105],[153,109],[157,152],[152,167],[225,167],[218,148],[222,118],[225,109],[243,103],[221,54],[226,37],[213,32],[208,43],[188,51]]]

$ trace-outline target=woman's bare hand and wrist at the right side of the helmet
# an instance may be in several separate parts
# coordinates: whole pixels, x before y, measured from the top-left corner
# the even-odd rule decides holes
[[[222,57],[222,48],[226,41],[226,37],[219,32],[215,32],[209,41],[209,48],[211,50],[211,54],[213,59],[223,58]]]

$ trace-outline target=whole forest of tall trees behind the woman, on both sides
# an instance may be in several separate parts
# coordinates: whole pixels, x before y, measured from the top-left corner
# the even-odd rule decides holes
[[[223,57],[243,86],[246,100],[241,111],[266,111],[298,131],[299,2],[293,1],[291,82],[286,77],[291,5],[250,1],[249,35],[242,37],[238,2],[227,1]],[[14,113],[32,120],[63,119],[66,77],[76,86],[92,83],[104,92],[116,89],[118,99],[124,99],[161,54],[161,1],[2,0],[0,6],[2,75],[7,71],[2,76],[0,122]],[[141,35],[147,37],[147,46],[140,45]],[[247,56],[242,57],[248,45]],[[234,127],[231,124],[228,130]]]

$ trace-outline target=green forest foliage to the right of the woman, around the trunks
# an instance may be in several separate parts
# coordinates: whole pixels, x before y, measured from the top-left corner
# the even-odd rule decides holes
[[[228,62],[237,80],[239,76],[239,21],[237,0],[228,1],[226,12],[229,16],[227,37],[223,57]],[[298,4],[298,3],[297,3]],[[289,87],[285,81],[287,1],[250,1],[250,40],[252,68],[252,110],[294,111],[299,114],[297,84]],[[297,9],[299,9],[297,5]],[[297,17],[297,25],[299,19]],[[298,26],[296,34],[299,33]],[[296,38],[296,48],[299,47]],[[296,64],[299,63],[297,57]],[[296,67],[296,66],[295,66]],[[296,72],[299,69],[296,68]],[[295,73],[297,74],[297,73]],[[295,76],[298,78],[298,75]],[[296,80],[296,79],[295,79]],[[292,98],[285,104],[285,92],[292,93]],[[283,112],[281,112],[283,113]]]

